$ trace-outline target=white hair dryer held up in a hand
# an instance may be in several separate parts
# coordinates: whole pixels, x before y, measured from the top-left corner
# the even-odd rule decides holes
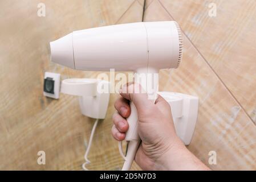
[[[55,63],[84,71],[109,71],[111,68],[133,71],[137,73],[135,81],[141,85],[152,78],[152,73],[159,73],[159,69],[177,68],[182,57],[181,32],[174,21],[118,24],[74,31],[51,42],[50,46],[51,60]],[[141,79],[141,74],[149,77]],[[148,88],[145,90],[148,92]],[[158,80],[153,83],[155,96],[157,90]],[[132,103],[127,121],[129,130],[125,140],[129,144],[127,155],[123,156],[123,170],[131,168],[140,144],[137,110]]]

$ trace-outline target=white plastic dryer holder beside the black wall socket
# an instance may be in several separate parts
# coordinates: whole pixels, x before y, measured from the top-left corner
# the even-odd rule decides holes
[[[79,96],[83,115],[104,119],[109,102],[109,82],[91,78],[71,78],[62,81],[61,92]]]

